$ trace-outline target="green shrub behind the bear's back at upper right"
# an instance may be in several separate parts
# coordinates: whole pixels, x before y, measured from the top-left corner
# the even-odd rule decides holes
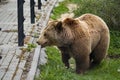
[[[74,11],[78,17],[84,13],[93,13],[105,20],[110,29],[120,30],[120,0],[69,0],[78,4]]]

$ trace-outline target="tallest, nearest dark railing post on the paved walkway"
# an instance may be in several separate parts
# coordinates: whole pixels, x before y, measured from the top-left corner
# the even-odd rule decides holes
[[[18,13],[18,46],[24,45],[24,16],[23,16],[23,4],[24,0],[17,0],[17,13]]]

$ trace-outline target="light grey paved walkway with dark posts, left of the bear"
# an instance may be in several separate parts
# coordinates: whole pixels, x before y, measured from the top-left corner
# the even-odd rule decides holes
[[[40,56],[40,46],[31,51],[28,43],[36,44],[40,29],[47,24],[51,10],[57,0],[43,1],[42,10],[37,10],[36,23],[30,23],[30,0],[24,4],[25,46],[18,47],[17,0],[0,3],[0,80],[33,80]],[[36,0],[37,1],[37,0]],[[38,26],[39,25],[39,26]]]

